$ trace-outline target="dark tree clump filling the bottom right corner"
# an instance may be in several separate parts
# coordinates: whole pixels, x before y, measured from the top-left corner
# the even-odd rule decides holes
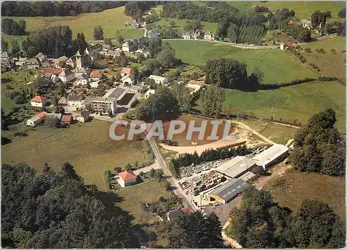
[[[229,215],[226,233],[244,248],[342,248],[346,228],[326,203],[304,200],[294,213],[254,187],[242,192],[242,203]]]

